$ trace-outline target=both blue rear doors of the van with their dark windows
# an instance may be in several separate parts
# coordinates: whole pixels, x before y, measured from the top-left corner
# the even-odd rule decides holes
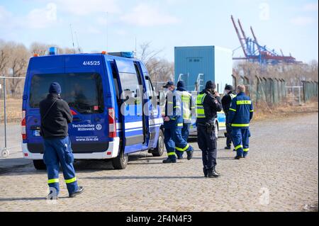
[[[84,67],[84,61],[99,63]],[[50,84],[56,81],[62,87],[62,99],[67,101],[74,115],[73,123],[69,125],[73,152],[105,152],[109,139],[106,136],[108,112],[105,109],[102,57],[65,56],[64,65],[63,69],[51,70],[50,73],[39,71],[31,77],[28,106],[30,112],[36,114],[33,113],[27,121],[28,149],[33,153],[43,153],[42,137],[38,133],[38,105],[47,96]]]

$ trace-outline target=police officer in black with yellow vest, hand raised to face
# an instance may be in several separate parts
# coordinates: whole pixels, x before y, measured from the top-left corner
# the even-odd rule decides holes
[[[206,88],[196,98],[196,124],[198,146],[203,152],[203,173],[205,177],[220,176],[216,172],[217,141],[214,122],[217,112],[222,110],[216,84],[208,81]]]

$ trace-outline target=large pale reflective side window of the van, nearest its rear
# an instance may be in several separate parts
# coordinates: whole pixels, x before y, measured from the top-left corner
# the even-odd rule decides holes
[[[121,86],[123,94],[121,98],[128,105],[141,105],[142,90],[137,74],[120,72]]]

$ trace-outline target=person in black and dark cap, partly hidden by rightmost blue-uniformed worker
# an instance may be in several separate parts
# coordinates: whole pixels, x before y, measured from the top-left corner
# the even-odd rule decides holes
[[[233,90],[233,86],[227,85],[225,86],[224,96],[222,98],[223,111],[226,116],[226,122],[228,122],[229,118],[229,108],[232,104],[233,98],[236,97],[236,94]],[[232,127],[229,123],[226,123],[226,132],[227,132],[227,140],[226,140],[226,150],[232,149]]]

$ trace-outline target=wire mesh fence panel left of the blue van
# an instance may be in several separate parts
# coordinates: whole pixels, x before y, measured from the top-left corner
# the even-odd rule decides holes
[[[21,150],[24,77],[0,77],[0,157]]]

